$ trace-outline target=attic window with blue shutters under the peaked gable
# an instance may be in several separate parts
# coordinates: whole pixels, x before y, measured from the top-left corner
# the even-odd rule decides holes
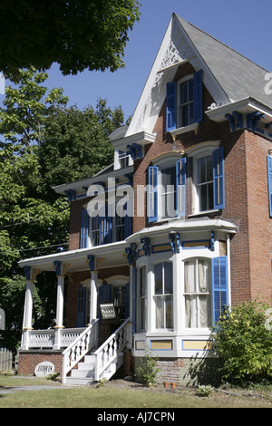
[[[167,131],[202,121],[202,70],[181,82],[168,82],[166,92]]]

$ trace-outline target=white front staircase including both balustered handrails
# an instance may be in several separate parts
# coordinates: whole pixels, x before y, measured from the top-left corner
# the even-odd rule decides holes
[[[98,340],[98,320],[86,328],[63,351],[63,383],[86,385],[109,380],[123,363],[122,351],[128,344],[129,324],[127,319],[93,353],[91,349]]]

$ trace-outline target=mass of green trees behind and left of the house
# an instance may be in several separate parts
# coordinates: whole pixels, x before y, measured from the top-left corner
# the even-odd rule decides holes
[[[21,338],[24,311],[18,261],[67,248],[69,203],[52,186],[109,165],[108,134],[123,121],[121,107],[112,111],[103,100],[96,111],[66,108],[63,90],[48,92],[46,78],[34,68],[20,71],[0,109],[0,307],[8,313],[2,340],[11,349]],[[53,324],[55,286],[54,273],[35,280],[35,328]]]

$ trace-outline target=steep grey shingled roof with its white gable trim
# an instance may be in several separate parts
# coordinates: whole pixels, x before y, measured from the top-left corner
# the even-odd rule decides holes
[[[253,99],[266,105],[272,114],[272,96],[265,92],[267,70],[173,14],[126,137],[141,131],[152,133],[165,100],[166,83],[173,80],[185,61],[196,71],[203,70],[203,82],[215,102],[212,108]]]

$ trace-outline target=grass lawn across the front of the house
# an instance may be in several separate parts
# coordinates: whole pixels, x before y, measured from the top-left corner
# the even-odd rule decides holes
[[[38,378],[0,376],[0,391],[12,386],[51,385],[52,389],[17,391],[1,394],[0,408],[272,408],[271,390],[267,395],[233,396],[214,391],[209,397],[200,397],[195,389],[178,388],[163,390],[160,386],[151,389],[141,386],[112,385],[63,387],[60,382]],[[256,395],[256,394],[255,394]]]

